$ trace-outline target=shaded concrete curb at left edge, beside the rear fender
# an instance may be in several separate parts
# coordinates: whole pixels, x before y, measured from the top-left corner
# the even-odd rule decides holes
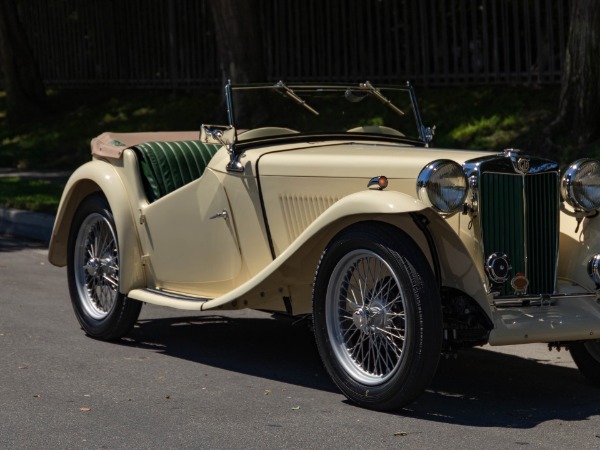
[[[0,208],[0,234],[33,239],[48,244],[55,216],[20,209]]]

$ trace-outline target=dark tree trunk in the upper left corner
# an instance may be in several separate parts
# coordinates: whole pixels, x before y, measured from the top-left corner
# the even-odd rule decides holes
[[[8,123],[17,125],[46,112],[46,91],[14,0],[0,0],[0,63]]]

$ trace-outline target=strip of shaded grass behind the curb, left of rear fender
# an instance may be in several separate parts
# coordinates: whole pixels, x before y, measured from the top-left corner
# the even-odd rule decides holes
[[[50,181],[0,178],[0,206],[54,214],[63,187]]]

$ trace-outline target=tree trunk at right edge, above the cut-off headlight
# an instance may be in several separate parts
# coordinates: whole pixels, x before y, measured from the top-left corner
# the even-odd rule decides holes
[[[572,0],[559,113],[550,134],[576,146],[600,138],[600,2]]]

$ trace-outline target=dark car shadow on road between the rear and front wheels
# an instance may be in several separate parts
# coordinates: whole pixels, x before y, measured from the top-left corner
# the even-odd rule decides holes
[[[304,321],[216,315],[138,321],[122,343],[225,370],[336,392]]]

